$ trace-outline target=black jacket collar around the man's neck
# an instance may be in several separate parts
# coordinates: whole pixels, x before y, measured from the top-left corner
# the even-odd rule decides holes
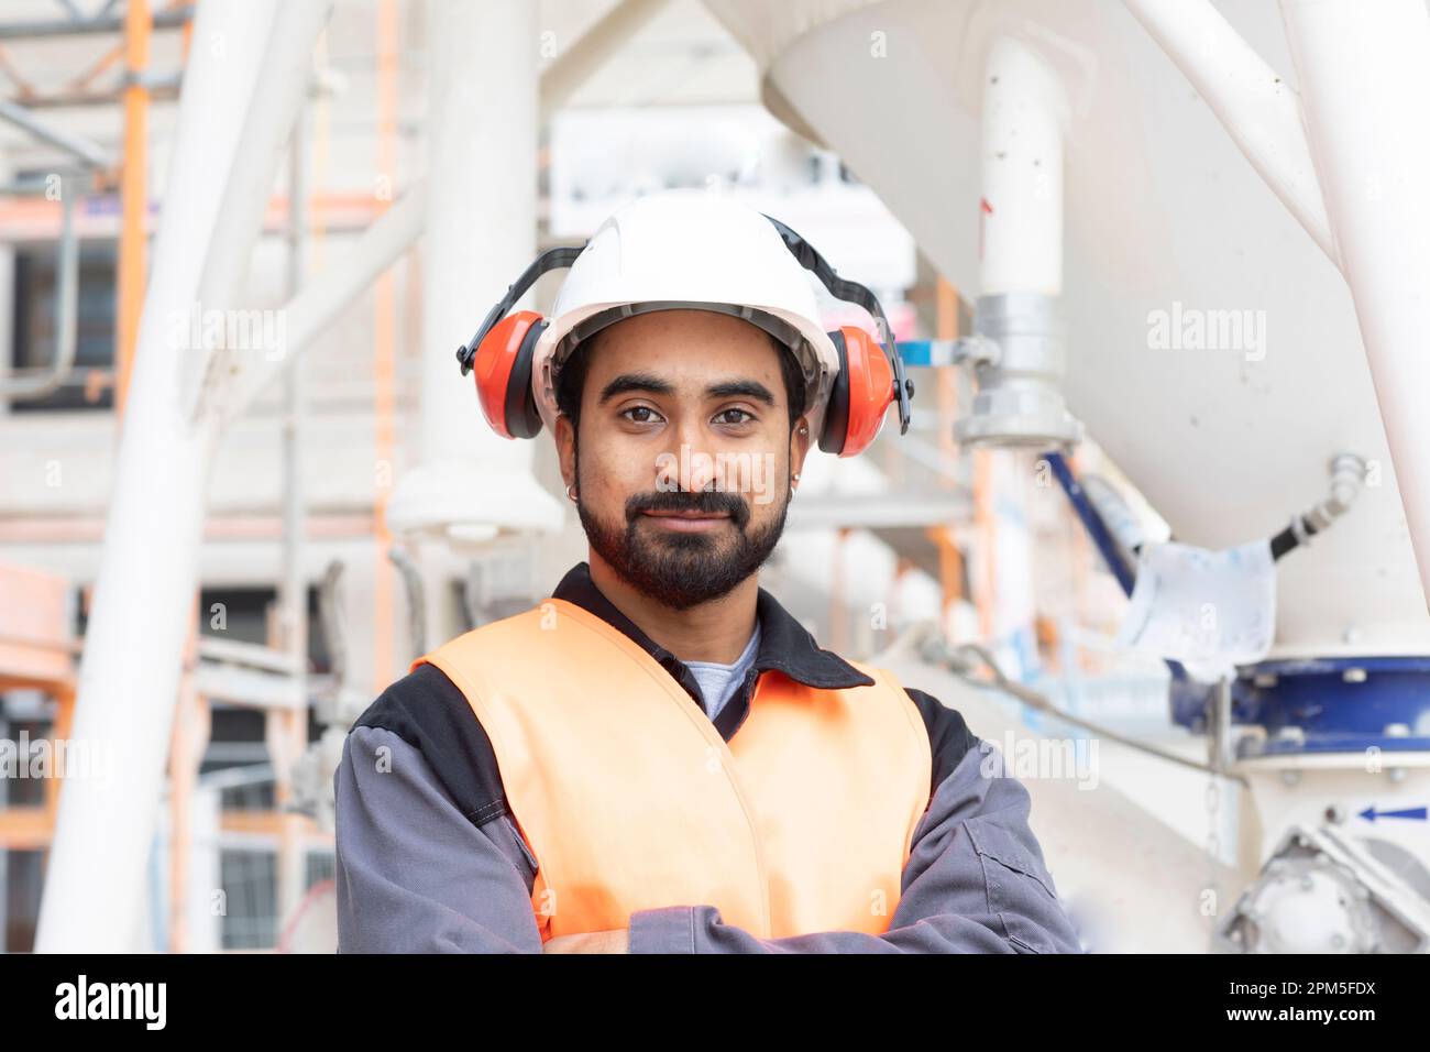
[[[631,618],[616,610],[615,604],[591,580],[591,564],[578,562],[566,571],[566,575],[561,578],[561,584],[552,593],[552,598],[575,603],[612,627],[619,628],[664,666],[699,701],[699,684],[689,668],[675,654],[641,631]],[[797,683],[821,690],[869,687],[874,684],[874,680],[838,654],[819,647],[814,635],[764,588],[759,590],[755,615],[759,618],[759,651],[755,654],[754,664],[756,671],[775,670]]]

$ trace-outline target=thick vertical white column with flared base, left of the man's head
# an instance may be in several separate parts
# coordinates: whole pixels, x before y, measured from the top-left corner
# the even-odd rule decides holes
[[[429,26],[422,462],[398,479],[388,522],[398,537],[443,545],[498,530],[558,530],[565,512],[536,482],[535,444],[488,428],[455,356],[536,255],[536,9],[433,0]],[[470,59],[473,40],[483,42],[482,62]],[[440,562],[425,558],[445,578]],[[445,591],[435,584],[429,577],[433,603]],[[432,631],[445,628],[433,623]]]

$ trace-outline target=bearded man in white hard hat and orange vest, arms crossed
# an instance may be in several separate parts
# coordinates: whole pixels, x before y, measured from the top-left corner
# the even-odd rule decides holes
[[[506,388],[539,399],[555,375],[542,415],[589,561],[353,726],[340,952],[1081,952],[998,751],[759,587],[811,441],[861,411],[831,402],[794,243],[739,206],[655,198],[586,246],[533,378]],[[682,278],[691,238],[768,265],[785,299],[751,311],[748,289],[711,286],[748,273]],[[874,368],[852,348],[845,371]]]

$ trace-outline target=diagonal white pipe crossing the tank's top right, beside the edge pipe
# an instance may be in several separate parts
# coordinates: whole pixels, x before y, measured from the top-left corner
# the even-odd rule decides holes
[[[1301,126],[1301,106],[1291,86],[1241,39],[1210,0],[1124,3],[1197,89],[1273,193],[1340,266],[1340,252],[1326,218]]]

